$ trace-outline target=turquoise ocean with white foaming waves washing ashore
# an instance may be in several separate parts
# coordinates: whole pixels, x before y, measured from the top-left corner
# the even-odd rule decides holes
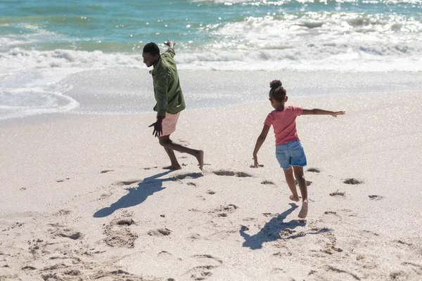
[[[418,73],[422,1],[1,0],[0,119],[75,110],[60,81],[168,38],[181,70]]]

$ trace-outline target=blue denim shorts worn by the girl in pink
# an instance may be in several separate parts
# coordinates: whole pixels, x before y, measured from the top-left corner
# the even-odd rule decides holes
[[[283,169],[290,166],[306,166],[306,155],[300,141],[290,141],[276,146],[276,158]]]

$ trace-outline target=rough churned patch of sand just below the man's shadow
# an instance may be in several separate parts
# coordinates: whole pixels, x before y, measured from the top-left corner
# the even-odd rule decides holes
[[[117,218],[110,221],[103,231],[106,235],[104,242],[111,247],[133,248],[138,235],[132,233],[129,226],[132,226],[134,223],[134,220],[129,217]]]

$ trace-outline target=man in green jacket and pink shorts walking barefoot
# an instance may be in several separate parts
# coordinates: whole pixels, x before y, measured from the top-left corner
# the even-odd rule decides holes
[[[186,105],[180,88],[176,63],[173,60],[175,55],[174,41],[169,39],[165,44],[169,48],[162,55],[160,55],[160,48],[155,43],[151,42],[143,46],[143,63],[147,67],[154,67],[150,73],[153,74],[154,95],[157,102],[154,111],[157,112],[157,122],[151,124],[150,127],[154,127],[153,135],[158,137],[160,145],[164,147],[165,152],[170,157],[171,165],[164,169],[181,169],[174,155],[174,150],[177,150],[196,157],[199,169],[202,171],[204,165],[203,150],[186,148],[170,140],[170,134],[176,130],[180,112],[184,110]]]

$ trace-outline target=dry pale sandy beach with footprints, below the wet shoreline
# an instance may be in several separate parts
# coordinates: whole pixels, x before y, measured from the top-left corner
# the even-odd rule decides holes
[[[166,171],[153,112],[0,123],[0,280],[422,280],[421,93],[295,97],[309,214],[252,150],[269,103],[185,110]]]

